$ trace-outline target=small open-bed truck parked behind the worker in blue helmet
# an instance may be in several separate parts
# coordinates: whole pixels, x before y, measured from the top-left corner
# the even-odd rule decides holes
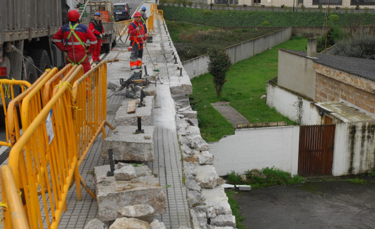
[[[105,31],[102,38],[102,52],[109,52],[116,45],[116,26],[113,18],[113,3],[111,1],[88,1],[80,7],[80,23],[89,27],[90,21],[94,20],[94,13],[101,14],[101,20]],[[90,42],[87,41],[87,44]]]

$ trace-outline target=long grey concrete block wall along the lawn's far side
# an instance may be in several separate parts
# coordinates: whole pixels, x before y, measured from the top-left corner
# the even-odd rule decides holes
[[[269,47],[289,41],[292,37],[292,27],[284,28],[276,32],[255,38],[234,46],[225,48],[228,52],[232,63],[247,59],[258,53],[267,50]],[[199,56],[182,63],[190,79],[207,73],[208,55]]]

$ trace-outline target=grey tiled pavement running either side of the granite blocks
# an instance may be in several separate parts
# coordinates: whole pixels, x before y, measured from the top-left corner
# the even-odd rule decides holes
[[[150,13],[150,4],[144,3],[148,13]],[[163,56],[162,43],[167,43],[167,37],[162,31],[162,21],[154,20],[155,32],[153,32],[153,43],[147,44],[154,63],[161,72],[163,84],[157,85],[156,107],[154,109],[153,125],[154,133],[154,162],[147,165],[152,172],[158,175],[160,184],[164,188],[166,197],[166,213],[163,215],[155,215],[154,218],[163,222],[167,229],[178,229],[180,226],[190,228],[189,210],[186,201],[186,189],[182,185],[182,169],[181,169],[181,153],[177,141],[177,133],[174,120],[174,102],[170,96],[168,84],[168,72],[166,61]],[[125,41],[126,36],[122,37]],[[169,41],[168,41],[169,44]],[[129,60],[130,52],[127,51],[129,41],[126,45],[121,42],[113,47],[113,50],[107,55],[106,59],[116,57],[118,59]],[[120,51],[120,53],[118,53]],[[144,50],[143,62],[147,65],[148,74],[156,74],[152,71],[153,65],[147,51]],[[130,66],[127,61],[117,61],[107,63],[107,82],[119,85],[120,78],[128,78],[130,76]],[[112,91],[107,90],[107,95]],[[121,105],[124,97],[113,95],[107,99],[107,121],[114,125],[114,115],[117,108]],[[106,128],[107,135],[110,133]],[[80,166],[80,174],[82,179],[91,189],[95,189],[94,175],[90,173],[96,166],[107,165],[109,162],[101,157],[102,135],[97,137],[92,145],[85,160]],[[7,160],[3,164],[7,164]],[[41,199],[41,197],[40,197]],[[42,210],[42,214],[43,214]],[[67,197],[67,211],[62,214],[59,229],[82,229],[92,219],[98,218],[98,204],[96,200],[82,188],[82,201],[77,201],[75,185],[69,190]],[[46,222],[44,222],[46,224]],[[46,226],[44,226],[46,227]],[[1,224],[2,228],[2,224]]]

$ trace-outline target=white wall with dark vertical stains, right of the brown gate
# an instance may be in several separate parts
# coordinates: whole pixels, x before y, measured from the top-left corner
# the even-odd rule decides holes
[[[337,123],[332,175],[367,173],[375,166],[375,123]]]

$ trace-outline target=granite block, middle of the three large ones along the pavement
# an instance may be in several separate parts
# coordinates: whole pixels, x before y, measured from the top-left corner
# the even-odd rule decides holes
[[[142,126],[144,134],[135,134],[137,126],[117,126],[103,140],[102,157],[108,159],[108,149],[113,150],[113,159],[118,161],[154,161],[153,126]]]

